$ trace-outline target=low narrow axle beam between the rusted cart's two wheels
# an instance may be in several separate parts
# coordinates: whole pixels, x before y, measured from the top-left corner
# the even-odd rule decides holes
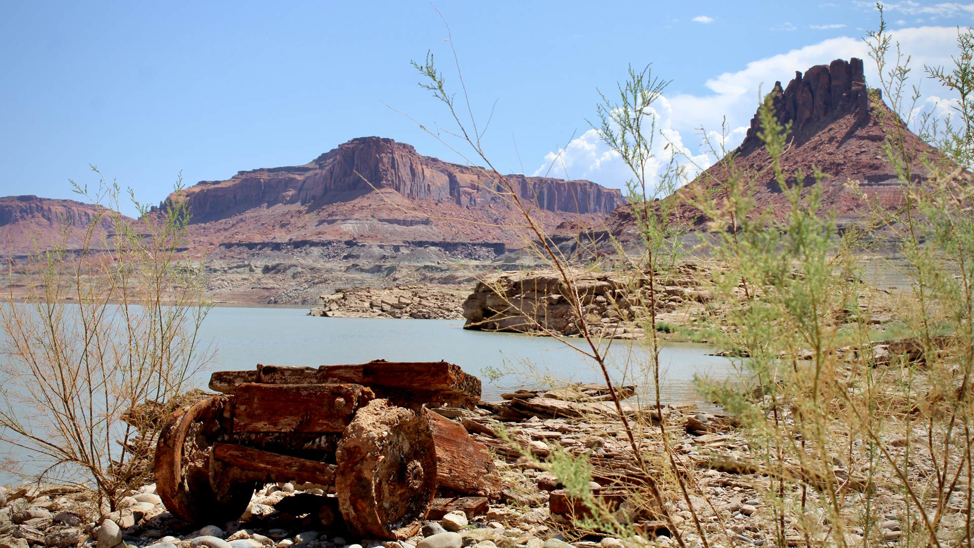
[[[214,444],[213,457],[249,472],[247,478],[254,481],[296,480],[322,486],[335,485],[334,464],[234,444]]]

